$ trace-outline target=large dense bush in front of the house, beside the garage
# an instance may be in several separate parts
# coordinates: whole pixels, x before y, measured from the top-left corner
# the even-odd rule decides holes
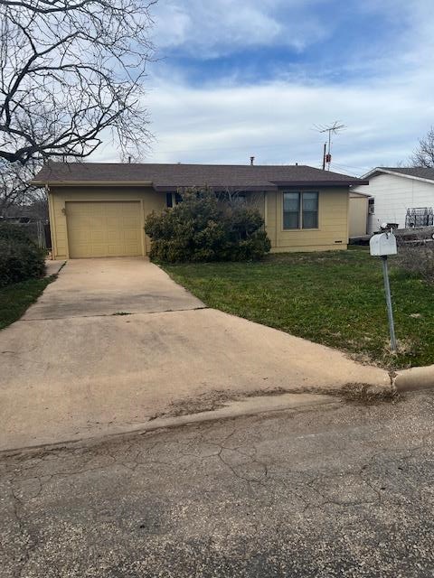
[[[258,210],[219,200],[210,189],[190,190],[173,209],[148,215],[151,259],[167,262],[246,261],[271,247]]]

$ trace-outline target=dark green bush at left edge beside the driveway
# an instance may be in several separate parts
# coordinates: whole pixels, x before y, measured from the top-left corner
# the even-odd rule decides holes
[[[0,287],[41,277],[44,272],[44,251],[33,243],[23,228],[0,223]]]

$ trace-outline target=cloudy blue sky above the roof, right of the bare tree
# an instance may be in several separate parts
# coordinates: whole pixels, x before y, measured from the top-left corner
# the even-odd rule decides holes
[[[405,163],[434,125],[433,0],[159,0],[149,163]],[[104,144],[93,161],[118,161]]]

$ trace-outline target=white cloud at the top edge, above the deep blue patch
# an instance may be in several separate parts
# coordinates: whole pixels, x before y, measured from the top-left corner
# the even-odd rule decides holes
[[[318,0],[167,0],[155,8],[155,42],[165,48],[177,47],[195,58],[215,58],[250,46],[276,43],[303,50],[308,43],[327,33],[309,12]],[[278,18],[281,7],[291,7],[292,17],[285,23]]]

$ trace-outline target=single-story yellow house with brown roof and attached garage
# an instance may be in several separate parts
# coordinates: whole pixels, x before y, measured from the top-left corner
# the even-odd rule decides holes
[[[302,165],[150,163],[49,163],[34,183],[48,192],[53,258],[146,255],[146,215],[204,185],[258,208],[273,252],[344,249],[349,189],[368,184]]]

